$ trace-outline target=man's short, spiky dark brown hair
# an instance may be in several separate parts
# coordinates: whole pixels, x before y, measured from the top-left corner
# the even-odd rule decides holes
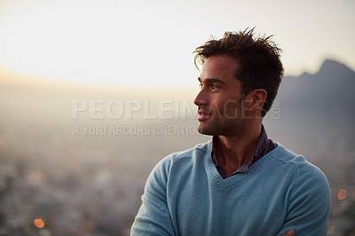
[[[228,56],[238,62],[234,76],[241,81],[241,92],[247,95],[249,91],[264,89],[267,98],[262,110],[264,116],[271,108],[276,97],[283,67],[280,61],[281,49],[271,40],[270,36],[259,36],[254,38],[254,28],[244,31],[225,32],[222,39],[214,37],[194,52],[194,64],[197,67],[197,60],[201,65],[210,56]]]

